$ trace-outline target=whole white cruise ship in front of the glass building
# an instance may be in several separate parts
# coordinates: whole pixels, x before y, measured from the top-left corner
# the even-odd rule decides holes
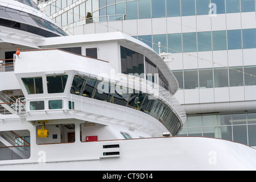
[[[178,89],[139,40],[68,36],[34,2],[0,0],[1,171],[255,170],[254,148],[177,137]]]

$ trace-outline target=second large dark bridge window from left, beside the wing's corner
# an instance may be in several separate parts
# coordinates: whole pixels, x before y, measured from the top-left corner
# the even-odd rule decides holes
[[[48,93],[63,93],[68,75],[47,76]]]

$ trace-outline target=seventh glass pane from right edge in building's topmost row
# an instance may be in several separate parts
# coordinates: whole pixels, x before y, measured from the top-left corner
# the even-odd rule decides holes
[[[152,1],[152,18],[166,17],[166,0]]]

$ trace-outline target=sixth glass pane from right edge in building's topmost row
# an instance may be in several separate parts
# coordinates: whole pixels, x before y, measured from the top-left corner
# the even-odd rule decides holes
[[[166,0],[167,17],[180,16],[180,0]]]

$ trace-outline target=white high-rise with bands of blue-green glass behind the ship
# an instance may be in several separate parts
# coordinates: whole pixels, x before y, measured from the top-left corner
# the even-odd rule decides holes
[[[169,54],[167,65],[179,82],[175,97],[184,106],[229,103],[239,108],[256,102],[255,0],[49,2],[42,9],[63,26],[68,25],[74,35],[121,31],[156,52],[161,42],[160,52]],[[61,11],[64,6],[72,7]],[[92,13],[94,27],[74,23],[88,12]],[[150,64],[146,69],[154,72]],[[255,112],[237,109],[188,113],[180,135],[256,146]]]

